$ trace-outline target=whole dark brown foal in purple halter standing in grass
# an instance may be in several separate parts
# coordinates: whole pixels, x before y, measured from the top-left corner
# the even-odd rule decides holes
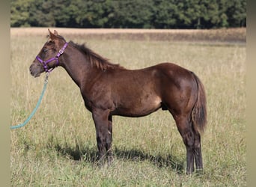
[[[92,113],[100,158],[112,162],[112,116],[142,117],[162,108],[168,110],[186,145],[186,173],[203,169],[201,136],[207,110],[204,86],[189,70],[171,63],[141,70],[111,64],[84,45],[77,45],[57,31],[30,66],[31,75],[61,66],[79,86],[85,107]]]

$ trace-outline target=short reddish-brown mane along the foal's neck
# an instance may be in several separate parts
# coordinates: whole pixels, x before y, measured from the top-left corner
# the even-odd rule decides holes
[[[124,68],[121,67],[119,64],[112,64],[111,62],[109,62],[109,59],[103,58],[102,56],[85,46],[85,44],[80,45],[77,43],[73,43],[73,41],[70,41],[70,43],[74,47],[76,47],[76,49],[79,49],[85,54],[85,58],[87,59],[87,61],[89,61],[89,63],[91,63],[91,65],[99,68],[100,70]]]

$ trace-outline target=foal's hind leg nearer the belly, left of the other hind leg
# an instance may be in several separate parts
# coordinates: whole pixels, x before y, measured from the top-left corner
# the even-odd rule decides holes
[[[174,119],[186,146],[186,174],[191,174],[195,170],[193,149],[195,132],[192,129],[192,122],[189,120],[189,117],[183,115],[175,116]]]

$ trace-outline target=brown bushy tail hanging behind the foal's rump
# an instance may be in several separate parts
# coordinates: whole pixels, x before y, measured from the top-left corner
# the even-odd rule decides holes
[[[194,128],[199,132],[204,132],[204,128],[207,124],[207,100],[204,91],[204,85],[195,75],[192,73],[195,78],[195,82],[198,85],[198,96],[195,102],[195,105],[192,109],[192,122]]]

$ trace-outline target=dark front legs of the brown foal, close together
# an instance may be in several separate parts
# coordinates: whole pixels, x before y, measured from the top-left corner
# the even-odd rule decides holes
[[[97,147],[99,150],[99,159],[102,161],[106,154],[111,152],[112,144],[112,123],[109,128],[109,110],[94,108],[92,111],[97,135]],[[110,133],[109,133],[110,132]]]

